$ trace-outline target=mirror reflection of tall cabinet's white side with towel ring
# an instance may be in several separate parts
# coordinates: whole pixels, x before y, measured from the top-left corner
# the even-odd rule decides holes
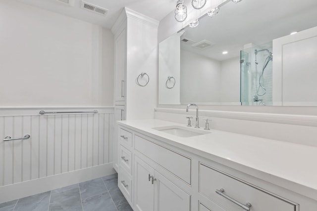
[[[177,33],[159,43],[160,104],[180,104],[180,36]],[[170,76],[174,79],[167,81]]]

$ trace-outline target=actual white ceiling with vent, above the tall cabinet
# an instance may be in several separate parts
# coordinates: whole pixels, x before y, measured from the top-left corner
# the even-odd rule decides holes
[[[106,16],[80,8],[81,0],[16,0],[62,15],[84,20],[110,29],[124,7],[160,21],[174,10],[176,0],[85,0],[88,3],[108,9]],[[67,0],[66,0],[67,1]]]

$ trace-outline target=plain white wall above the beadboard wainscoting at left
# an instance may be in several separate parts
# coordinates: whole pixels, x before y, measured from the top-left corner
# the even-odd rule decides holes
[[[10,0],[0,28],[0,107],[113,105],[109,30]]]

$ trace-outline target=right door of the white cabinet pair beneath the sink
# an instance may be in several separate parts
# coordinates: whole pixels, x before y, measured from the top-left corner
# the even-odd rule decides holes
[[[155,171],[155,211],[190,211],[190,195]]]

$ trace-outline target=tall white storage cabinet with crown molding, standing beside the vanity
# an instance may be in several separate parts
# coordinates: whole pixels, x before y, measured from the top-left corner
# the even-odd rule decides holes
[[[157,47],[159,22],[124,8],[111,31],[114,34],[115,121],[152,119],[157,100]],[[149,83],[136,83],[147,73]],[[118,134],[115,127],[114,134]],[[113,167],[119,172],[120,147],[114,136]]]

